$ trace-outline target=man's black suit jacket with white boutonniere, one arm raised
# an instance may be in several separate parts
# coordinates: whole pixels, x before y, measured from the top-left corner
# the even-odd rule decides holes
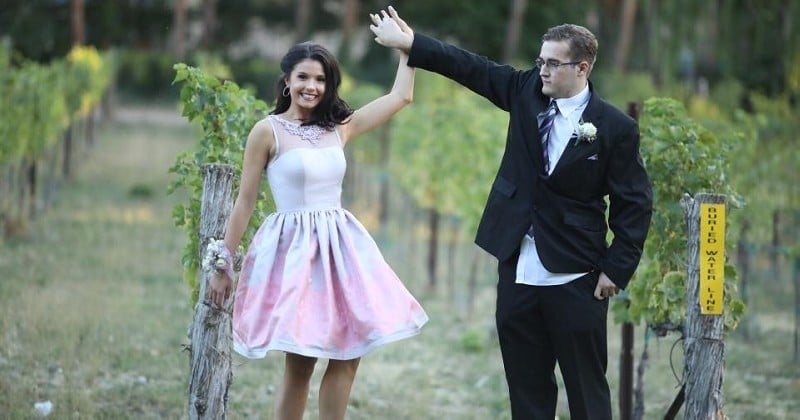
[[[509,113],[505,152],[475,243],[505,261],[532,225],[549,271],[599,270],[618,287],[627,286],[652,214],[636,121],[602,100],[590,83],[582,118],[597,127],[597,138],[570,140],[547,176],[536,115],[550,98],[542,94],[538,68],[517,70],[420,33],[414,35],[408,64],[446,76]]]

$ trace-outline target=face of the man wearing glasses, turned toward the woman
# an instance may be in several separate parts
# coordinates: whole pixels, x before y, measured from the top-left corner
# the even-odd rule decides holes
[[[544,65],[539,67],[542,76],[542,93],[557,99],[575,96],[586,86],[582,76],[585,63],[566,64],[574,60],[569,55],[567,41],[544,41],[539,52],[539,60]]]

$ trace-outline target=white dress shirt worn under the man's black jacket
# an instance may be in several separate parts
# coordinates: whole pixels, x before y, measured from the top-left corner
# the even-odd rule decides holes
[[[578,122],[581,120],[581,115],[583,110],[586,109],[586,104],[589,102],[590,97],[589,85],[586,85],[577,95],[556,100],[558,114],[556,114],[553,121],[553,128],[550,130],[550,138],[547,141],[550,174],[553,173],[553,169],[558,164],[558,160],[564,153],[564,148],[569,143],[572,134],[577,131]],[[522,238],[519,260],[517,261],[517,283],[531,286],[555,286],[569,283],[584,275],[586,273],[551,273],[547,271],[539,258],[535,239],[529,235],[525,235]]]

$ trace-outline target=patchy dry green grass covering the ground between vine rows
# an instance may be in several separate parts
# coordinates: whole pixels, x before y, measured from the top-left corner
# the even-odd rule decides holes
[[[174,111],[173,111],[174,112]],[[181,197],[166,196],[167,168],[192,147],[185,125],[129,119],[98,129],[73,182],[37,218],[30,235],[0,244],[0,419],[32,418],[50,400],[51,418],[184,418],[188,383],[189,290],[181,280],[184,238],[171,220]],[[356,146],[357,147],[357,146]],[[364,179],[369,174],[362,173]],[[363,184],[363,182],[362,182]],[[387,259],[431,317],[423,333],[362,361],[349,419],[507,419],[503,368],[491,328],[494,269],[483,254],[479,290],[467,310],[473,245],[442,247],[438,293],[427,288],[423,213],[394,200],[378,229],[364,197],[354,213],[375,232]],[[751,337],[726,341],[726,413],[731,419],[788,419],[800,411],[791,309],[757,314]],[[609,325],[609,381],[617,396],[619,327]],[[670,370],[675,337],[651,339],[645,373],[648,419],[662,418],[677,392]],[[636,330],[635,355],[643,332]],[[673,355],[682,367],[680,348]],[[317,418],[314,375],[309,419]],[[234,358],[233,419],[270,419],[282,358]],[[614,407],[616,410],[616,406]],[[567,418],[566,398],[559,415]],[[682,417],[682,414],[681,414]]]

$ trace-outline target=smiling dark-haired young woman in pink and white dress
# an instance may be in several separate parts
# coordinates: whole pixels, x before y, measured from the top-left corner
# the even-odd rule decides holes
[[[376,35],[399,25],[385,12],[371,18]],[[278,419],[303,417],[318,358],[329,359],[319,389],[320,418],[344,418],[361,356],[416,335],[428,320],[366,229],[341,207],[343,147],[411,102],[414,69],[407,59],[401,54],[388,94],[353,111],[339,98],[333,55],[317,44],[296,45],[281,60],[275,110],[247,139],[227,249],[239,245],[265,169],[277,211],[244,258],[234,300],[234,349],[248,358],[285,352]],[[231,289],[232,279],[221,271],[208,295],[221,306]]]

